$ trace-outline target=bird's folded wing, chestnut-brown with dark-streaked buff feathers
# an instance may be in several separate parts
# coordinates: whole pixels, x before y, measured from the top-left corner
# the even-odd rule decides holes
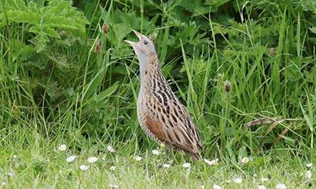
[[[199,134],[186,109],[171,88],[159,91],[147,99],[146,127],[157,138],[192,153],[203,147]]]

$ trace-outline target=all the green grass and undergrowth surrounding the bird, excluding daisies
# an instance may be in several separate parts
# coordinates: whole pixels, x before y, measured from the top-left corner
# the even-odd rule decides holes
[[[52,33],[55,37],[48,35],[40,47],[30,29],[36,23],[12,17],[23,10],[15,7],[21,1],[1,2],[0,19],[10,24],[0,22],[0,182],[5,183],[0,187],[316,184],[314,167],[306,167],[316,165],[316,9],[308,2],[227,1],[206,8],[203,1],[187,7],[182,1],[75,1],[90,22],[85,31],[51,24],[60,38]],[[109,26],[107,34],[103,23]],[[137,121],[138,60],[123,42],[136,40],[131,29],[158,33],[162,72],[196,123],[203,158],[218,158],[216,166],[191,162],[182,153],[152,154],[162,149]],[[245,127],[259,118],[269,123]],[[66,151],[58,149],[61,144]],[[77,157],[68,163],[72,154]],[[98,161],[88,163],[91,156]],[[251,161],[242,163],[243,157]],[[171,166],[161,168],[160,163]],[[184,168],[184,163],[191,166]]]

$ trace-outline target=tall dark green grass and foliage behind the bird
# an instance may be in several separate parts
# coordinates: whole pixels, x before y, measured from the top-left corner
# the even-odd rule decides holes
[[[109,140],[153,146],[137,121],[138,61],[123,42],[137,40],[135,29],[157,34],[163,73],[194,117],[205,155],[217,141],[230,158],[255,150],[270,125],[244,124],[262,116],[301,118],[278,124],[264,149],[288,127],[276,145],[294,147],[298,138],[308,152],[316,122],[315,2],[194,2],[1,1],[1,132],[35,123],[41,135],[63,135],[78,150]]]

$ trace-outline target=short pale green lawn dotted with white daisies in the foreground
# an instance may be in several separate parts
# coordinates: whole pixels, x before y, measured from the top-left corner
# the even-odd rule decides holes
[[[306,163],[315,163],[312,155],[314,151],[306,152],[304,156],[296,155],[301,150],[300,147],[260,152],[250,157],[251,161],[246,164],[230,161],[219,148],[214,151],[219,162],[213,166],[203,161],[192,163],[180,153],[154,155],[149,149],[135,151],[135,138],[128,143],[116,145],[113,153],[106,149],[108,144],[101,142],[88,144],[80,151],[73,148],[60,151],[58,147],[65,142],[62,135],[47,139],[38,134],[36,125],[31,123],[28,126],[28,129],[21,129],[20,125],[12,125],[8,129],[9,134],[1,138],[2,144],[6,146],[2,149],[2,182],[8,188],[91,188],[108,187],[110,184],[117,184],[121,188],[197,188],[213,184],[228,188],[255,188],[262,184],[273,188],[277,183],[284,183],[288,188],[304,188],[309,183],[314,184],[313,177],[305,177],[307,170],[314,172],[314,167],[306,167]],[[104,148],[104,151],[99,151],[100,148]],[[14,154],[17,155],[16,158],[13,157]],[[77,155],[76,159],[71,163],[66,162],[66,157],[72,154]],[[139,162],[135,160],[137,155],[142,157]],[[98,161],[88,163],[90,156],[98,157]],[[307,159],[310,161],[306,161]],[[182,164],[186,162],[192,163],[191,167],[183,168]],[[159,163],[168,163],[171,166],[160,168]],[[81,165],[87,165],[89,169],[83,171],[79,168]],[[110,170],[111,166],[115,166],[114,171]],[[8,172],[13,175],[6,175]],[[263,177],[270,179],[262,181]],[[242,178],[242,183],[234,183],[235,178]]]

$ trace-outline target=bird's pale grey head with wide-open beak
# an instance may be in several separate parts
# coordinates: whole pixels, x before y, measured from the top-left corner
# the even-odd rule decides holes
[[[156,54],[155,46],[154,46],[153,42],[148,37],[142,35],[138,31],[135,31],[133,29],[132,29],[132,31],[134,31],[134,33],[138,37],[139,42],[133,42],[133,41],[127,41],[127,40],[125,40],[125,42],[129,43],[133,47],[133,49],[134,49],[134,51],[135,51],[135,53],[140,61],[148,59],[148,57],[152,53]]]

